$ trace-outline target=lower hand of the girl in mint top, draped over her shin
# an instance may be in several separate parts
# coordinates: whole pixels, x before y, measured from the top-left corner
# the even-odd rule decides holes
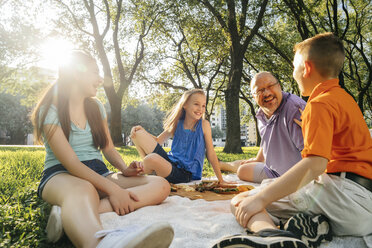
[[[120,187],[114,188],[108,194],[108,199],[112,209],[118,215],[125,215],[133,212],[134,202],[139,201],[138,197],[134,193]]]

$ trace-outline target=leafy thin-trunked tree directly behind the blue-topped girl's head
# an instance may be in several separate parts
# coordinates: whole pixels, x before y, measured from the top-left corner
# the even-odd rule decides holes
[[[191,88],[204,89],[209,119],[227,78],[228,53],[220,42],[222,32],[204,10],[174,1],[169,5],[148,39],[156,46],[141,78],[151,87],[158,86],[163,96],[170,89],[178,92],[177,96]],[[153,73],[154,67],[160,72]]]

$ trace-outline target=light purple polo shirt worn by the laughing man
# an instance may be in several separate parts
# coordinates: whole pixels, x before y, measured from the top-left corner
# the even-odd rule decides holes
[[[301,119],[298,109],[304,109],[306,102],[296,95],[282,94],[282,102],[270,119],[266,118],[261,108],[256,115],[265,164],[274,171],[274,177],[275,174],[283,175],[300,161],[304,148],[301,127],[293,119]]]

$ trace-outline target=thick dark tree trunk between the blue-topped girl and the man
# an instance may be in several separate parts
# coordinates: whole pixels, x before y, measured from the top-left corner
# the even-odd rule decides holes
[[[226,153],[242,153],[240,140],[239,92],[243,71],[244,52],[231,48],[231,69],[227,86],[226,101]]]

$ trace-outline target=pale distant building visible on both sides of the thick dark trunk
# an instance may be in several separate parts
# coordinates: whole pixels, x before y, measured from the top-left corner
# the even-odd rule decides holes
[[[244,109],[240,118],[242,119],[247,115],[248,110]],[[222,137],[213,138],[214,146],[225,146],[226,142],[226,110],[223,105],[219,105],[210,117],[210,123],[212,130],[213,128],[220,127],[222,131]],[[256,140],[256,125],[253,120],[249,120],[248,123],[244,123],[240,126],[240,140],[242,146],[255,146]]]

